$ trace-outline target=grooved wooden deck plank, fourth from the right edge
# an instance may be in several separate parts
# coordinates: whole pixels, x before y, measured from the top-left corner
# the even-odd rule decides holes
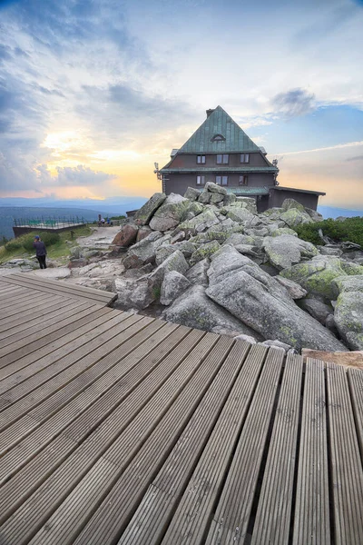
[[[303,360],[289,355],[263,474],[252,545],[289,543]]]

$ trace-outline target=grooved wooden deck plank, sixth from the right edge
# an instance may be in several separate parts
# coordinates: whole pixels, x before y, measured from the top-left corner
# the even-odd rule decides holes
[[[265,346],[251,347],[165,533],[165,545],[203,542],[267,352]]]

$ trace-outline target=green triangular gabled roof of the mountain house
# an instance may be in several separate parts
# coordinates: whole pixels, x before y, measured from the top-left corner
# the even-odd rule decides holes
[[[223,136],[223,140],[213,141],[213,136]],[[258,145],[251,141],[240,126],[217,106],[209,117],[201,124],[191,138],[182,145],[178,154],[212,154],[230,152],[260,152]]]

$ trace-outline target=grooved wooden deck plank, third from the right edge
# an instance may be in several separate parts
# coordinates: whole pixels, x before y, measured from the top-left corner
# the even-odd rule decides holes
[[[329,545],[329,466],[324,363],[308,358],[299,444],[294,545]]]

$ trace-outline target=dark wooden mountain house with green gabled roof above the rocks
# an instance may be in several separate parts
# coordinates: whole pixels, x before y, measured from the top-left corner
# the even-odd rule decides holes
[[[270,163],[265,150],[221,106],[207,110],[201,126],[180,149],[172,150],[170,162],[156,172],[163,193],[184,194],[188,187],[202,189],[213,182],[236,195],[254,197],[259,212],[277,206],[273,202],[280,202],[288,189],[274,191],[279,186],[277,161]],[[304,206],[316,210],[319,194],[325,193],[296,190],[293,198],[301,203],[303,199]]]

